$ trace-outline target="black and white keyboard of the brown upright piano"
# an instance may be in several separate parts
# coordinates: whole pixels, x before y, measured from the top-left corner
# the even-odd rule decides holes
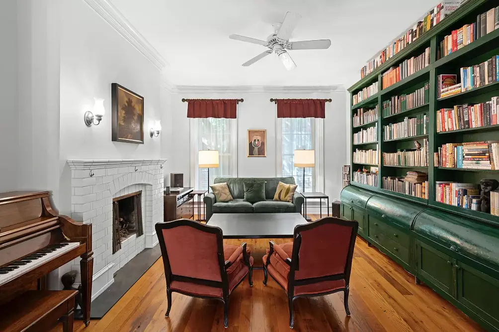
[[[44,249],[30,253],[29,255],[13,261],[8,265],[0,267],[0,285],[24,274],[47,261],[54,259],[72,249],[78,247],[79,242],[65,242],[50,245]]]

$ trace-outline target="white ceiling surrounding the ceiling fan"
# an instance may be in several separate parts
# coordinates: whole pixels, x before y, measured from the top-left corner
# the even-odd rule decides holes
[[[359,69],[437,0],[111,0],[169,62],[175,85],[349,86]],[[286,11],[302,18],[291,41],[326,39],[327,50],[294,50],[287,71],[275,54],[241,66],[267,48],[229,39],[266,39]]]

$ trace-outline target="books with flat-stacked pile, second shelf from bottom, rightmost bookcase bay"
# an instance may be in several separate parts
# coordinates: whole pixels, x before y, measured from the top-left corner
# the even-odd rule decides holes
[[[499,169],[499,141],[447,143],[438,148],[438,165],[451,168]]]

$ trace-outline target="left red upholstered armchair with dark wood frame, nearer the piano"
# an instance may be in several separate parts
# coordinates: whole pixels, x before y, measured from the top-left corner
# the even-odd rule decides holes
[[[217,298],[224,303],[224,325],[228,327],[229,295],[248,274],[252,283],[253,257],[246,243],[224,245],[222,229],[189,219],[156,223],[165,266],[168,317],[172,291]]]

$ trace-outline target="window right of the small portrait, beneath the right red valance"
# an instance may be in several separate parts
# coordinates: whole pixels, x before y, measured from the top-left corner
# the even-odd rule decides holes
[[[294,176],[297,190],[303,189],[303,168],[294,166],[294,150],[315,149],[315,118],[281,119],[282,176]],[[315,191],[315,168],[305,168],[305,192]]]

